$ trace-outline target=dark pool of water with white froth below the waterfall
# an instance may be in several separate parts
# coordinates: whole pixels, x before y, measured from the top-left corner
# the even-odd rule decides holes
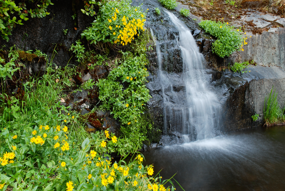
[[[143,152],[145,164],[162,169],[184,190],[285,190],[285,126],[233,132],[225,136]],[[181,190],[176,184],[176,191]]]

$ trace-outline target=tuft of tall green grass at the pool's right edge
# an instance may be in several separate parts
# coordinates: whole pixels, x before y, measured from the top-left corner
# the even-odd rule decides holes
[[[264,100],[263,115],[266,126],[284,123],[284,109],[280,109],[280,105],[277,100],[278,93],[275,93],[275,91],[276,90],[273,92],[272,87],[270,94],[268,97],[266,96]]]

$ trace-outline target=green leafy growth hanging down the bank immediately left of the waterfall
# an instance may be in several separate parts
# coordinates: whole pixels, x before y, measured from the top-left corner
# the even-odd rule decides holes
[[[145,140],[145,131],[141,131],[141,113],[143,105],[149,100],[149,90],[144,83],[148,72],[145,55],[133,57],[131,53],[122,53],[119,66],[110,71],[107,79],[99,79],[99,100],[103,110],[111,110],[114,118],[121,122],[120,152],[133,152],[141,148]],[[117,62],[117,61],[116,61]],[[118,149],[119,150],[119,149]]]

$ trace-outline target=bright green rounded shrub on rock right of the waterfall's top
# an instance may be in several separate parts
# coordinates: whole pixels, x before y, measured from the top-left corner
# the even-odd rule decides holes
[[[231,55],[237,49],[242,49],[243,40],[244,44],[247,44],[246,39],[242,38],[241,31],[228,26],[227,23],[202,20],[199,26],[205,29],[206,33],[218,38],[212,44],[212,51],[221,58]]]

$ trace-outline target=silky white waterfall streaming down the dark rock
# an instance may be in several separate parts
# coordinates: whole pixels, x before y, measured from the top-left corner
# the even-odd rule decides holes
[[[172,78],[162,69],[162,55],[157,40],[158,77],[162,85],[164,108],[164,130],[183,134],[184,142],[215,136],[217,128],[217,111],[219,101],[209,86],[209,75],[203,66],[204,58],[199,52],[191,31],[173,13],[164,9],[179,32],[177,44],[183,57],[183,73]],[[152,31],[151,31],[152,32]],[[153,34],[153,32],[152,32]],[[165,35],[167,41],[167,35]],[[179,91],[174,91],[175,83],[183,83],[183,100]]]

